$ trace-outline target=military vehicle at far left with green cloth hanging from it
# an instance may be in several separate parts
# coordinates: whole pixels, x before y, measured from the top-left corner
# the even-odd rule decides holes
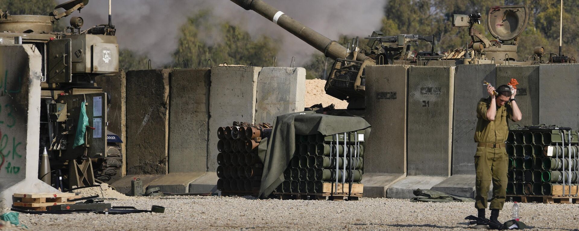
[[[47,16],[11,15],[0,10],[0,43],[32,44],[42,54],[39,150],[42,153],[46,148],[52,169],[44,173],[50,176],[45,182],[61,189],[114,180],[120,177],[122,165],[122,141],[107,129],[111,95],[95,81],[119,72],[119,46],[110,7],[108,24],[81,29],[82,17],[71,17],[64,32],[53,31],[53,24],[88,3],[71,0]],[[43,170],[47,167],[41,167],[41,173]]]

